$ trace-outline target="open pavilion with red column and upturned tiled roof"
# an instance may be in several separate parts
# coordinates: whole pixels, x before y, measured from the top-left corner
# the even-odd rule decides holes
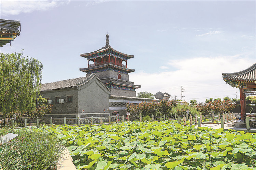
[[[245,98],[249,95],[256,95],[256,63],[251,67],[234,73],[222,73],[223,80],[230,86],[239,88],[241,117],[245,120],[246,104]]]

